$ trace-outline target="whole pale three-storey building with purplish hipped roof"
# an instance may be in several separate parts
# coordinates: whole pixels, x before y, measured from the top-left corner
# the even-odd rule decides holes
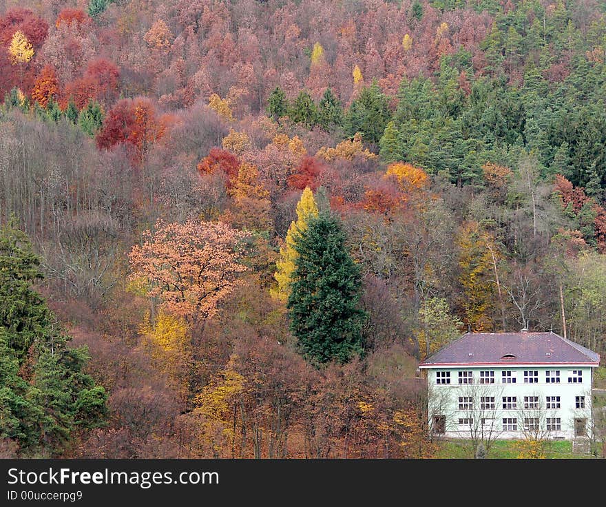
[[[430,428],[491,441],[587,437],[599,364],[597,353],[555,333],[467,333],[419,364]]]

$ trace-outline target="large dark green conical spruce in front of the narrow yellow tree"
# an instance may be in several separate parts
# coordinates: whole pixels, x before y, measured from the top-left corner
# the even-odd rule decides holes
[[[339,219],[328,211],[310,217],[306,231],[295,236],[295,250],[288,308],[300,351],[313,364],[362,354],[360,273]]]

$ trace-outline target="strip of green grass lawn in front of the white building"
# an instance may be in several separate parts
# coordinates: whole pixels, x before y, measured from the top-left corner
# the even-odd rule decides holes
[[[572,442],[567,440],[550,440],[545,442],[548,459],[587,459],[592,455],[573,454]],[[514,459],[518,457],[519,450],[515,440],[497,440],[490,447],[489,459]],[[435,456],[441,459],[469,459],[473,457],[470,442],[466,440],[450,439],[441,442],[439,451]]]

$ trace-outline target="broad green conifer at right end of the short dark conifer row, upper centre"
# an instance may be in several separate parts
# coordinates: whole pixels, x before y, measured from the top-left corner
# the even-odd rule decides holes
[[[350,136],[359,132],[364,141],[378,143],[390,118],[387,97],[374,81],[369,87],[363,87],[351,103],[345,118],[345,130]]]

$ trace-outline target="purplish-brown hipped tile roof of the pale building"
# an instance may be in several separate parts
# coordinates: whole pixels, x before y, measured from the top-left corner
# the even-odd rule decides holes
[[[505,355],[514,358],[503,359]],[[595,363],[597,366],[600,355],[556,333],[466,333],[430,355],[420,366],[449,363]]]

